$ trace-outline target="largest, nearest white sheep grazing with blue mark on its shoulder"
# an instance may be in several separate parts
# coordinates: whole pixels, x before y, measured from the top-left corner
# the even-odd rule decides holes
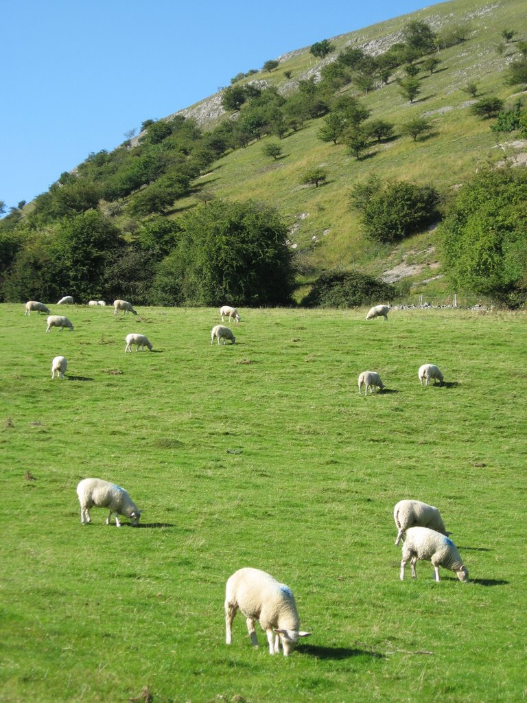
[[[227,581],[225,624],[228,645],[232,641],[233,619],[238,609],[247,618],[247,629],[254,647],[258,647],[254,621],[259,621],[267,636],[269,654],[278,654],[281,642],[284,657],[288,657],[299,638],[311,635],[311,632],[299,630],[300,620],[291,589],[260,569],[238,569]]]

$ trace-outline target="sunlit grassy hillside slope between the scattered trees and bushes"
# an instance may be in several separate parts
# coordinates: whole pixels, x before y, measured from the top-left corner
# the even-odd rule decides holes
[[[360,96],[363,104],[372,110],[372,117],[392,122],[396,131],[412,117],[427,116],[434,122],[431,134],[417,142],[399,136],[389,143],[373,146],[361,160],[356,160],[343,144],[334,146],[320,141],[317,133],[323,120],[312,120],[304,129],[281,141],[284,157],[280,160],[275,162],[261,153],[263,143],[270,139],[275,141],[274,138],[252,143],[221,159],[209,175],[200,179],[200,191],[204,189],[222,198],[250,197],[277,205],[294,229],[292,242],[315,272],[335,266],[360,265],[361,269],[380,274],[403,261],[408,250],[412,254],[429,250],[421,257],[421,263],[432,264],[433,273],[427,266],[415,280],[441,273],[435,268],[437,252],[429,249],[437,243],[434,233],[414,236],[398,247],[368,243],[360,231],[357,214],[349,210],[349,188],[369,174],[375,174],[382,179],[431,183],[448,199],[455,188],[484,163],[502,159],[503,152],[496,147],[497,136],[489,129],[493,120],[481,120],[469,114],[474,98],[462,91],[462,87],[475,82],[479,86],[478,98],[495,96],[512,101],[517,89],[505,86],[503,71],[514,54],[514,41],[507,45],[502,56],[495,46],[502,42],[501,32],[507,28],[516,30],[515,39],[525,39],[527,22],[520,0],[491,4],[453,0],[358,32],[341,34],[332,40],[335,53],[346,46],[365,47],[372,53],[386,51],[394,41],[401,41],[403,27],[410,20],[427,22],[436,32],[448,25],[469,22],[471,32],[464,43],[438,53],[441,64],[434,74],[420,74],[422,93],[415,103],[411,104],[399,94],[396,79],[403,75],[402,69],[391,77],[389,85],[370,91],[367,96],[353,86],[347,86],[342,92]],[[330,54],[325,62],[334,56]],[[285,70],[292,72],[291,79],[284,77]],[[307,47],[292,58],[285,58],[271,74],[252,75],[245,82],[264,80],[287,92],[299,79],[318,70],[320,59],[313,57]],[[525,150],[525,143],[510,149],[512,153]],[[316,189],[301,186],[302,174],[313,166],[327,169],[325,186]],[[194,203],[195,198],[191,196],[179,201],[178,209],[192,207]],[[427,289],[416,288],[416,292],[421,290]]]

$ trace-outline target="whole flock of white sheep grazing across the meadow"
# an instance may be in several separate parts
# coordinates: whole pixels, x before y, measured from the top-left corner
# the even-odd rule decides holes
[[[61,298],[58,304],[72,304],[70,296]],[[105,305],[104,301],[90,300],[90,306]],[[372,307],[366,316],[367,320],[382,316],[387,321],[389,305],[377,305]],[[131,303],[126,300],[115,300],[114,314],[119,311],[137,312]],[[30,300],[25,306],[25,314],[30,311],[39,311],[49,314],[49,309],[41,302]],[[234,320],[240,322],[238,310],[234,307],[223,306],[220,309],[221,321]],[[72,323],[65,316],[49,315],[47,318],[49,332],[52,327],[62,330],[65,327],[73,330]],[[211,344],[214,339],[218,344],[230,340],[235,344],[235,336],[230,328],[224,325],[215,325],[211,330]],[[126,336],[125,352],[131,352],[132,345],[136,346],[136,351],[141,347],[152,350],[152,344],[145,335],[129,334]],[[67,370],[67,361],[64,356],[56,356],[51,363],[51,378],[57,375],[64,378]],[[443,374],[437,366],[424,364],[419,368],[419,381],[421,385],[434,379],[443,382]],[[365,386],[365,394],[370,388],[370,394],[374,387],[382,390],[384,385],[379,374],[375,371],[363,371],[358,377],[359,394]],[[132,501],[128,491],[121,486],[112,484],[98,478],[87,478],[79,482],[77,486],[77,496],[81,508],[81,523],[91,523],[89,511],[94,506],[109,510],[106,524],[110,524],[112,517],[115,517],[117,527],[121,526],[119,515],[127,517],[131,524],[137,526],[141,519],[141,510]],[[434,567],[434,579],[439,581],[439,567],[450,569],[457,574],[460,581],[467,581],[468,571],[462,563],[460,553],[453,541],[448,538],[448,532],[441,518],[438,508],[434,505],[427,505],[420,501],[403,500],[399,501],[393,509],[393,519],[398,529],[396,545],[403,541],[401,560],[401,581],[404,579],[405,565],[410,560],[412,578],[415,579],[415,563],[417,560],[431,562]],[[300,630],[300,620],[297,612],[297,605],[291,589],[284,583],[280,583],[266,572],[260,569],[245,567],[238,569],[232,574],[226,583],[225,595],[225,623],[226,623],[226,643],[230,645],[232,641],[232,624],[235,614],[240,610],[247,621],[249,637],[254,647],[258,647],[258,638],[254,630],[255,621],[266,633],[269,653],[277,654],[282,648],[284,656],[288,656],[294,650],[301,637],[311,635],[310,632]]]

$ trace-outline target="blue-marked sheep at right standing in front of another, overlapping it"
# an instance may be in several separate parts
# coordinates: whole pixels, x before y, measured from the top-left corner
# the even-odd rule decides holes
[[[432,562],[434,579],[439,581],[439,567],[450,569],[457,574],[460,581],[467,581],[469,572],[463,565],[460,553],[451,539],[428,527],[410,527],[406,532],[403,543],[403,559],[401,560],[401,581],[405,577],[406,562],[410,559],[412,579],[415,574],[415,562],[418,559]]]

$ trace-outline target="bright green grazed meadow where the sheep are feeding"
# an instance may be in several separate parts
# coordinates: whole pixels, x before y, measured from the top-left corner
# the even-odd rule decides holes
[[[240,309],[212,347],[215,309],[58,311],[73,332],[0,305],[2,703],[525,699],[525,313]],[[151,353],[124,354],[134,331]],[[90,476],[141,527],[82,527]],[[401,498],[441,509],[469,583],[399,580]],[[313,631],[292,657],[240,614],[225,645],[242,566],[292,588]]]

